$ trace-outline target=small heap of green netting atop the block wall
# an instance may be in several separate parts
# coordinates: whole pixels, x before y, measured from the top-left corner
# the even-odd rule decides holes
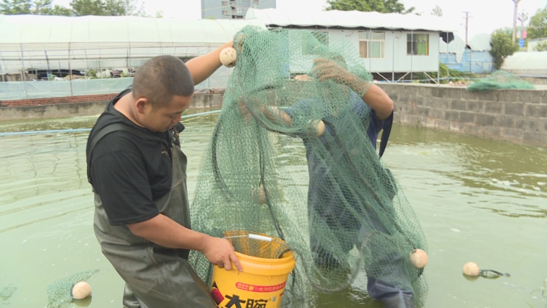
[[[467,86],[468,91],[487,92],[496,89],[533,90],[534,85],[522,78],[504,71],[496,71],[488,77],[476,80]]]

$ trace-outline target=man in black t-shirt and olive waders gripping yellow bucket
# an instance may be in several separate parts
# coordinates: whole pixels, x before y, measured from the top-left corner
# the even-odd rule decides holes
[[[231,45],[186,65],[173,56],[148,60],[91,130],[86,154],[95,235],[126,282],[125,307],[216,307],[188,264],[189,249],[220,268],[233,263],[242,270],[228,240],[190,229],[187,159],[178,140],[194,84],[220,67],[220,51]]]

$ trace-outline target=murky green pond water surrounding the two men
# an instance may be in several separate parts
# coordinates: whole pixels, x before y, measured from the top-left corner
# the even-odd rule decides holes
[[[86,129],[96,118],[2,121],[0,133]],[[216,119],[183,120],[190,202]],[[91,301],[71,307],[122,307],[124,282],[93,232],[87,137],[0,136],[0,294],[10,294],[0,305],[44,307],[48,284],[98,269],[88,280]],[[305,170],[301,150],[284,155],[289,168]],[[395,125],[382,160],[427,236],[426,307],[547,307],[547,150]],[[511,276],[467,280],[467,261]],[[347,290],[309,300],[311,307],[382,307],[366,293],[364,276]]]

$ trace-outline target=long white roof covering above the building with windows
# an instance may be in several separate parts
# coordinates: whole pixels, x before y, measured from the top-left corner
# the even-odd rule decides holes
[[[363,11],[285,11],[280,9],[247,10],[246,20],[259,19],[270,27],[367,28],[415,30],[451,33],[456,30],[446,19],[433,15],[382,14]]]

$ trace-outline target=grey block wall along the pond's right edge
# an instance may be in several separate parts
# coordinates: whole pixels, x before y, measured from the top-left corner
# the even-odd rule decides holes
[[[380,84],[395,104],[394,120],[547,147],[547,90],[493,90],[416,84]]]

